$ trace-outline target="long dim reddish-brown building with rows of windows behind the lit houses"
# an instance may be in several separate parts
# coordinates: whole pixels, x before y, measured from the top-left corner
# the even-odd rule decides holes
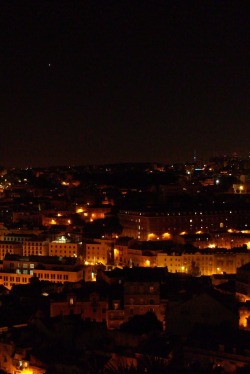
[[[122,235],[138,240],[161,240],[166,234],[196,233],[249,228],[250,212],[247,210],[197,210],[197,211],[128,211],[119,212],[123,226]],[[168,239],[168,238],[167,238]]]

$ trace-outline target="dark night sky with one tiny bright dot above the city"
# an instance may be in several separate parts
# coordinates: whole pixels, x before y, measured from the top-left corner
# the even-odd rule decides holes
[[[246,154],[248,6],[0,0],[0,164]]]

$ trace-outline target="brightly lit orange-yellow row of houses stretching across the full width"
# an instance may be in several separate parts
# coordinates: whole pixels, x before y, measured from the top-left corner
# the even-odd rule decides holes
[[[0,284],[11,288],[14,284],[28,283],[32,276],[51,282],[77,282],[80,279],[95,281],[99,267],[157,267],[167,268],[171,273],[194,276],[236,274],[238,268],[250,262],[250,251],[244,248],[148,250],[143,246],[130,248],[118,244],[113,248],[112,243],[98,240],[84,245],[60,242],[47,244],[48,250],[40,251],[40,248],[45,248],[44,241],[27,241],[22,245],[0,242]]]

